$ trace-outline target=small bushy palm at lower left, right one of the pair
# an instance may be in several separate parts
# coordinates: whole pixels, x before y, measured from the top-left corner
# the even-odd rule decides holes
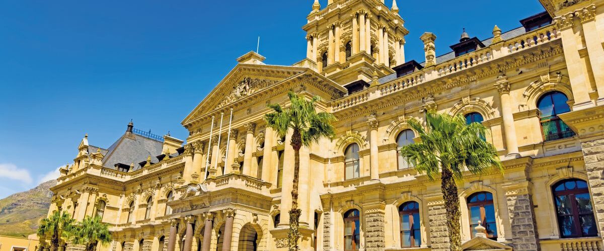
[[[109,224],[103,223],[98,216],[84,218],[73,227],[71,235],[72,243],[84,245],[85,251],[94,251],[97,243],[104,245],[112,240]]]

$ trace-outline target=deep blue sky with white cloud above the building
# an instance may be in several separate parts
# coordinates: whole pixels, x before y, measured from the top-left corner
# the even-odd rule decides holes
[[[57,175],[85,133],[108,147],[136,128],[185,139],[182,119],[256,48],[266,63],[306,56],[313,0],[0,2],[0,198]],[[326,0],[320,1],[321,6]],[[391,0],[387,0],[391,5]],[[537,0],[398,1],[406,60],[419,36],[449,51],[462,28],[486,39],[543,11]]]

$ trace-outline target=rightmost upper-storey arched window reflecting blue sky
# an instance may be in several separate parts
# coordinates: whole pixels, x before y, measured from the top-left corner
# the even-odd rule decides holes
[[[549,92],[539,98],[537,108],[541,112],[541,128],[544,141],[553,141],[574,136],[573,130],[558,117],[565,112],[570,112],[567,104],[568,98],[562,92]]]

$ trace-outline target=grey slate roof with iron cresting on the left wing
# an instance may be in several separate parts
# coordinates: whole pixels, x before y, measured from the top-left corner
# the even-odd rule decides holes
[[[130,165],[133,162],[135,164],[133,170],[138,170],[140,169],[138,163],[146,160],[149,155],[151,162],[157,163],[159,160],[156,156],[161,154],[162,145],[161,141],[126,132],[106,150],[103,167],[115,169],[115,164]]]

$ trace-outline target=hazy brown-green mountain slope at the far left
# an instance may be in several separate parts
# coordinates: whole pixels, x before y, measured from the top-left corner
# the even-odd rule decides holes
[[[54,185],[57,181],[49,180],[0,200],[0,235],[20,237],[35,233],[40,220],[48,214],[53,195],[50,188]]]

